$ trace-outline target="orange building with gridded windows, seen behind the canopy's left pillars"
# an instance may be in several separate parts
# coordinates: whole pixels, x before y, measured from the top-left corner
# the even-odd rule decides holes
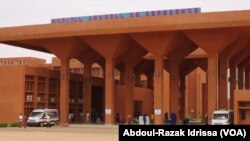
[[[31,57],[1,58],[0,62],[4,62],[0,67],[0,78],[3,80],[0,83],[0,96],[2,97],[0,112],[4,113],[4,116],[0,118],[1,122],[16,121],[19,113],[29,115],[33,109],[37,108],[60,108],[60,60],[58,58],[53,58],[51,64],[46,64],[43,59]],[[91,79],[84,78],[83,69],[84,66],[79,61],[75,59],[70,61],[69,115],[73,117],[71,122],[84,122],[84,114],[87,112],[93,115],[100,115],[104,112],[102,68],[98,64],[93,64]],[[90,98],[92,99],[90,101],[83,99],[83,80],[91,83]],[[121,89],[124,87],[117,85],[117,91]],[[140,106],[137,108],[138,111],[151,113],[152,91],[143,90],[143,88],[135,88],[135,91],[144,92],[144,96],[140,93],[141,96],[135,95],[134,98]],[[122,101],[124,96],[124,93],[117,93],[117,101]],[[91,103],[93,104],[87,109],[88,104]],[[116,104],[119,107],[117,113],[124,110],[124,105],[121,106],[121,103]],[[95,121],[96,117],[93,116],[92,122]]]

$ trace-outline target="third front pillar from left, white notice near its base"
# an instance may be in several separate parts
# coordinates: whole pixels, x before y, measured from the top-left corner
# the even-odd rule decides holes
[[[155,73],[154,73],[154,113],[155,124],[162,124],[162,94],[163,94],[163,56],[155,56]]]

